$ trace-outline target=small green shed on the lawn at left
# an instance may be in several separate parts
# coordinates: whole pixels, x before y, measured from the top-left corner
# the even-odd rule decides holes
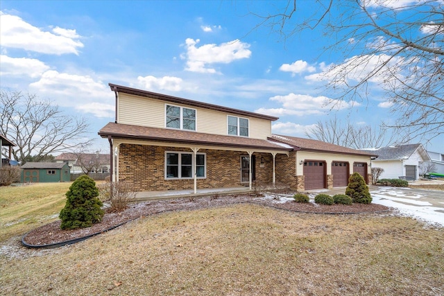
[[[67,163],[26,162],[22,166],[20,180],[22,183],[69,182],[70,168]]]

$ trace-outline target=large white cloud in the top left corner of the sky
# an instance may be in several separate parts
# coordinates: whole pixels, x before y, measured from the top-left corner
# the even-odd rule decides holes
[[[78,49],[83,47],[79,39],[80,35],[76,30],[56,27],[51,33],[28,24],[15,15],[3,12],[0,14],[1,46],[54,55],[78,55]]]

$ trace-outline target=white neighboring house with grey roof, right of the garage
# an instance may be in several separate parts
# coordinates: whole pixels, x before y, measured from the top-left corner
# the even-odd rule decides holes
[[[407,177],[407,180],[418,180],[422,174],[422,164],[430,161],[421,144],[371,148],[365,151],[378,155],[376,159],[372,159],[372,168],[384,169],[379,179]]]

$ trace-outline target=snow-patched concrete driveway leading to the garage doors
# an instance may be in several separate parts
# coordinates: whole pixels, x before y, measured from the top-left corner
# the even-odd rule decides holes
[[[310,193],[344,194],[346,187],[319,189]],[[394,207],[400,214],[444,227],[444,191],[391,186],[370,186],[373,203]]]

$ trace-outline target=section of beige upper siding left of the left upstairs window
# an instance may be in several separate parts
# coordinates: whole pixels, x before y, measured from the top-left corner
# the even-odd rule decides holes
[[[165,103],[153,98],[119,93],[117,123],[164,128]]]

